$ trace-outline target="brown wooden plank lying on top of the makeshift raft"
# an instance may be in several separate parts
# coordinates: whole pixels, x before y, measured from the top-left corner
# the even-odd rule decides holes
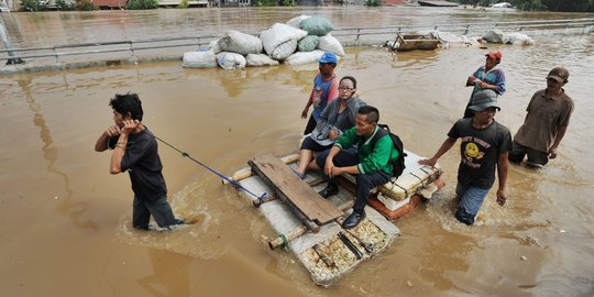
[[[344,212],[323,199],[279,158],[265,155],[254,157],[248,164],[309,230],[318,232],[319,226],[343,216]]]

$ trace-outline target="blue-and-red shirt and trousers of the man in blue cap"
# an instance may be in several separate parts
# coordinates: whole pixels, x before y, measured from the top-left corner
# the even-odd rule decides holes
[[[323,80],[321,74],[318,73],[318,75],[314,78],[314,89],[309,95],[309,101],[311,101],[314,106],[314,111],[309,117],[309,121],[304,134],[309,134],[311,131],[314,131],[314,128],[316,128],[316,123],[318,122],[318,117],[321,114],[326,106],[338,98],[338,86],[339,79],[336,75],[328,80]]]

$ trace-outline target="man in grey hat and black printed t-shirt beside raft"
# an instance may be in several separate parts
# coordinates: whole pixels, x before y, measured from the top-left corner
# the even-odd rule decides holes
[[[495,183],[495,167],[497,167],[499,180],[497,204],[504,206],[507,200],[505,184],[507,156],[512,150],[512,134],[509,129],[494,119],[497,110],[501,110],[495,91],[477,91],[469,109],[474,112],[474,117],[458,120],[448,132],[448,139],[438,152],[431,158],[419,161],[419,164],[435,166],[438,158],[447,153],[458,139],[461,140],[461,162],[458,167],[458,186],[455,187],[455,194],[460,200],[455,218],[470,226],[474,223],[474,217]]]

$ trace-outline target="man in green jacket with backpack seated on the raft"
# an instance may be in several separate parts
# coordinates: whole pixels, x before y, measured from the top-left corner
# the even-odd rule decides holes
[[[380,131],[378,120],[380,111],[376,108],[361,107],[356,113],[355,127],[346,130],[332,148],[316,158],[317,166],[323,168],[324,174],[330,177],[328,186],[320,191],[323,198],[338,194],[338,186],[333,180],[336,176],[355,176],[356,200],[353,213],[342,222],[344,229],[356,227],[365,218],[370,190],[392,178],[392,164],[398,158],[398,151],[394,148],[389,134]],[[377,133],[383,135],[374,140]],[[356,150],[353,148],[354,145]]]

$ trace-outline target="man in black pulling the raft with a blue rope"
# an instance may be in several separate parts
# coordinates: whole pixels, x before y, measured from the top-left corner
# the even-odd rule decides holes
[[[132,226],[148,230],[151,215],[161,228],[183,224],[184,221],[175,218],[167,201],[157,143],[141,122],[143,111],[139,96],[116,95],[109,105],[113,108],[116,124],[99,136],[95,151],[113,150],[109,169],[111,174],[128,170],[134,191]]]

